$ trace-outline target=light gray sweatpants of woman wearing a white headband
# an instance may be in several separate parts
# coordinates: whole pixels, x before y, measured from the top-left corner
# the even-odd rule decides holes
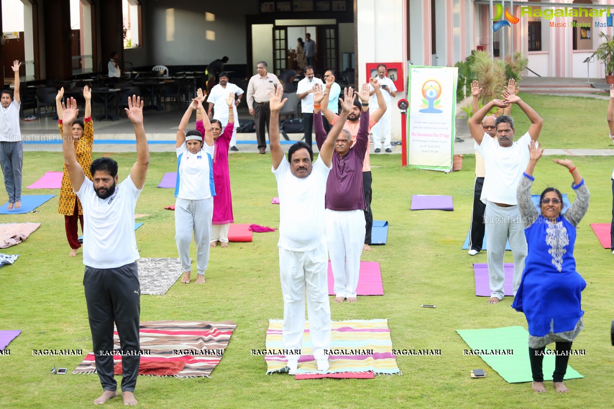
[[[196,268],[200,275],[209,264],[209,235],[213,218],[213,197],[200,201],[179,199],[175,202],[175,242],[184,272],[192,270],[190,243],[192,231],[196,242]]]

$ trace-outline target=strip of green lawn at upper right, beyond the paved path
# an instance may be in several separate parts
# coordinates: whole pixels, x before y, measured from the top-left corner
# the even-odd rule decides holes
[[[608,101],[596,98],[536,95],[519,96],[544,118],[540,143],[546,148],[612,149],[608,138],[606,113]],[[511,115],[516,121],[516,137],[523,136],[530,122],[514,105]]]

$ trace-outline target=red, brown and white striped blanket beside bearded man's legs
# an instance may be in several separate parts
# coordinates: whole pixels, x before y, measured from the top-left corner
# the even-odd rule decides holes
[[[209,377],[222,360],[230,336],[236,328],[232,321],[146,321],[141,323],[141,363],[185,362],[177,378]],[[114,332],[115,350],[119,350],[119,336]],[[114,363],[122,362],[119,355]],[[170,366],[170,364],[169,364]],[[72,373],[95,373],[94,354],[89,353]],[[141,371],[139,370],[139,374]]]

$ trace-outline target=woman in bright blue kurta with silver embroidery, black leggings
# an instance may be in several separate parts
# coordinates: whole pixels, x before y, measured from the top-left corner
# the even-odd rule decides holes
[[[573,247],[576,226],[588,210],[589,192],[580,172],[569,159],[553,159],[567,167],[573,177],[572,188],[577,197],[567,212],[558,189],[547,188],[540,197],[541,214],[531,201],[531,185],[535,164],[543,149],[529,147],[530,160],[518,184],[518,207],[524,223],[529,253],[523,278],[512,308],[523,312],[529,323],[529,359],[533,375],[532,388],[545,392],[542,361],[546,345],[556,342],[553,373],[554,389],[567,392],[563,377],[567,370],[572,342],[583,328],[581,291],[586,281],[576,271]]]

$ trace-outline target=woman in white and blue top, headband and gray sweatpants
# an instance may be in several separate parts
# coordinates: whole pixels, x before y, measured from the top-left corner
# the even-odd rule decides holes
[[[182,283],[190,282],[192,272],[190,262],[192,232],[196,242],[196,268],[198,269],[196,284],[204,283],[204,270],[207,269],[209,263],[209,234],[213,216],[213,196],[216,196],[212,167],[213,134],[209,118],[203,115],[203,121],[206,121],[204,129],[208,129],[205,132],[204,143],[200,132],[185,133],[192,112],[196,109],[203,112],[203,101],[204,97],[193,99],[177,129],[175,241],[184,270]]]

